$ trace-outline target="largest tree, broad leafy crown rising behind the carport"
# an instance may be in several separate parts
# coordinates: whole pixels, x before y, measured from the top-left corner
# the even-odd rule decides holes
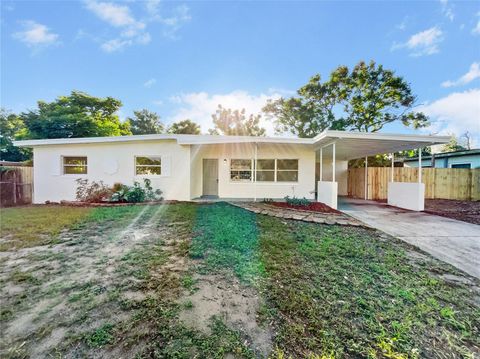
[[[395,121],[424,127],[428,119],[414,111],[415,103],[402,77],[374,61],[361,61],[351,71],[338,67],[325,82],[313,76],[297,96],[271,100],[263,111],[276,119],[278,132],[314,137],[326,129],[376,132]]]

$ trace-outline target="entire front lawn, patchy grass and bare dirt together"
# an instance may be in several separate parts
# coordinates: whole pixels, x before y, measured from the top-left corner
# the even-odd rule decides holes
[[[2,210],[5,358],[473,357],[480,283],[225,203]]]

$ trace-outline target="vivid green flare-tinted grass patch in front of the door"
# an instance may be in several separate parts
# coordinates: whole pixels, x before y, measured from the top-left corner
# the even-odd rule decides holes
[[[255,214],[226,203],[200,206],[190,256],[201,258],[204,272],[231,269],[254,283],[263,273]]]

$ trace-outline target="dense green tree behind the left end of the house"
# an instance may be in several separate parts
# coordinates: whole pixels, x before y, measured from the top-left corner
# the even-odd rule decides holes
[[[38,101],[38,109],[22,113],[20,118],[30,139],[129,135],[129,123],[120,122],[116,114],[121,106],[112,97],[72,91],[52,102]]]

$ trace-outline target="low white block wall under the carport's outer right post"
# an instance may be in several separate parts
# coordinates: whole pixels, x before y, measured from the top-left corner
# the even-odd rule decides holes
[[[388,182],[387,203],[391,206],[423,211],[425,184],[414,182]]]

